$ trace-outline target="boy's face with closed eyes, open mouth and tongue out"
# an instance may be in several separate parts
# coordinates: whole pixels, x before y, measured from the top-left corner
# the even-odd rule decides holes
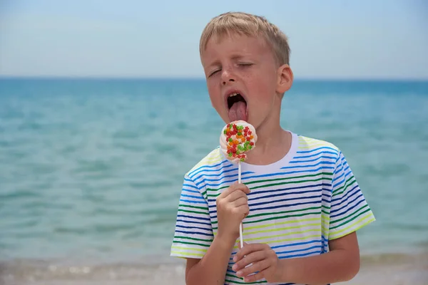
[[[277,66],[262,37],[213,36],[201,61],[211,103],[225,123],[245,120],[258,128],[279,113],[280,94],[291,85],[284,85],[283,69],[290,68]]]

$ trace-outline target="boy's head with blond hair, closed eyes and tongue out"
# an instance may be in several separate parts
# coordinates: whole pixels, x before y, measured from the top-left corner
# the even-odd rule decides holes
[[[226,123],[279,123],[292,71],[287,37],[277,26],[251,14],[221,14],[203,30],[200,58],[211,102]]]

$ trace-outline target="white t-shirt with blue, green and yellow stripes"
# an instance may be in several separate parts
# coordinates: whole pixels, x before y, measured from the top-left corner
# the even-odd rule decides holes
[[[374,221],[344,155],[329,142],[293,133],[290,151],[281,160],[242,162],[241,167],[242,183],[251,190],[243,239],[269,244],[280,259],[325,253],[329,240]],[[237,180],[238,165],[225,159],[219,147],[185,174],[171,256],[203,257],[217,234],[215,199]],[[225,284],[245,284],[232,270],[238,244],[239,239]]]

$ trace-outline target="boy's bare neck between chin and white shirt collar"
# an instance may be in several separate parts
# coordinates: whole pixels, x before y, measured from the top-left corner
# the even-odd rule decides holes
[[[258,140],[254,150],[248,152],[248,164],[269,165],[290,151],[292,135],[281,128],[279,118],[268,118],[256,131]]]

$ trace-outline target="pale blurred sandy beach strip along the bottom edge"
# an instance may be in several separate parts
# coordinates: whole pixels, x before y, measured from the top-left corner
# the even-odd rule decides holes
[[[4,285],[185,285],[184,261],[168,260],[159,264],[104,264],[86,266],[34,261],[1,266]],[[423,285],[428,280],[428,255],[362,257],[359,274],[337,284]]]

